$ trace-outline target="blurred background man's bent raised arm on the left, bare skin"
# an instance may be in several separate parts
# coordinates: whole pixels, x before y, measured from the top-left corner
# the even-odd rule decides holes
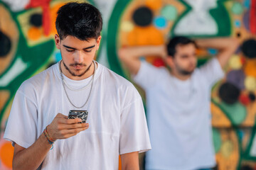
[[[139,57],[158,55],[166,57],[166,47],[164,45],[142,46],[142,47],[123,47],[118,52],[119,59],[124,63],[131,74],[137,74],[140,68]]]

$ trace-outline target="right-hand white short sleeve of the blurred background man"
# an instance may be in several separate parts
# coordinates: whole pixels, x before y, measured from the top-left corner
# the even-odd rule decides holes
[[[214,57],[209,62],[199,68],[201,77],[205,79],[210,86],[213,86],[217,81],[224,77],[223,69],[220,66],[218,59]]]

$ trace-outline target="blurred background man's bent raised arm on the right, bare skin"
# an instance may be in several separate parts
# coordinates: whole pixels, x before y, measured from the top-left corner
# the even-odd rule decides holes
[[[233,55],[235,50],[237,50],[239,42],[235,38],[210,38],[210,39],[200,39],[196,40],[196,44],[201,48],[214,48],[218,50],[218,61],[220,66],[223,68],[228,60]]]

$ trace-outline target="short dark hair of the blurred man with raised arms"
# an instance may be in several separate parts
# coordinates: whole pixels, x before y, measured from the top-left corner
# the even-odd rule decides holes
[[[183,37],[183,36],[176,36],[174,38],[171,38],[171,40],[169,41],[168,45],[167,45],[167,53],[169,56],[174,57],[175,53],[176,53],[176,47],[178,45],[188,45],[192,43],[193,45],[196,46],[196,42]]]

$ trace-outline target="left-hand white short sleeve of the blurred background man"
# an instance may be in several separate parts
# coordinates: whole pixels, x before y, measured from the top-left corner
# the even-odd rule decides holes
[[[136,75],[133,75],[133,80],[143,89],[147,89],[154,84],[159,79],[159,72],[161,69],[158,67],[154,67],[146,61],[141,62],[141,66],[139,68],[139,72]]]

